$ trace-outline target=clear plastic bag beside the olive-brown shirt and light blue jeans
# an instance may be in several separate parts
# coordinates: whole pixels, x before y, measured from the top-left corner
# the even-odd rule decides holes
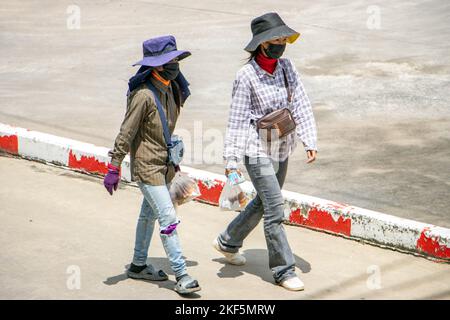
[[[170,198],[176,205],[181,205],[201,195],[197,181],[178,171],[170,184]]]

